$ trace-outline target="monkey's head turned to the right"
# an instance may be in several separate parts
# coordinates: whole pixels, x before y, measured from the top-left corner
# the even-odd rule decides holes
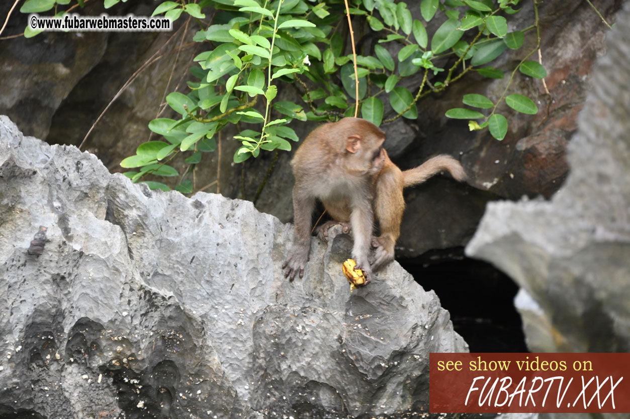
[[[380,172],[386,158],[385,133],[361,118],[343,118],[336,125],[345,142],[343,153],[347,169],[358,176]]]

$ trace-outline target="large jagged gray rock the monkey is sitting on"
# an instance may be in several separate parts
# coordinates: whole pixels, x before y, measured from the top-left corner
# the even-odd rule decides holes
[[[343,235],[289,282],[293,236],[0,116],[0,416],[427,416],[429,352],[467,350],[435,294],[396,263],[351,294]]]

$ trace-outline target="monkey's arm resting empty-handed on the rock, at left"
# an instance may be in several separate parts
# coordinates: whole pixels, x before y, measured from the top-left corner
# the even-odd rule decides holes
[[[293,188],[293,211],[295,221],[295,241],[289,252],[289,257],[282,265],[284,277],[293,281],[299,271],[300,277],[304,276],[304,265],[309,258],[311,250],[311,221],[315,208],[315,198],[299,190],[296,185]]]

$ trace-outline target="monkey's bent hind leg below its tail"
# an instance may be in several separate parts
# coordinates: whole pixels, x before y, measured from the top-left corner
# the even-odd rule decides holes
[[[396,168],[398,169],[398,168]],[[403,220],[404,198],[402,177],[396,172],[383,174],[377,182],[375,201],[376,218],[379,220],[381,235],[372,238],[374,269],[379,269],[394,260],[394,245],[400,236],[400,223]]]

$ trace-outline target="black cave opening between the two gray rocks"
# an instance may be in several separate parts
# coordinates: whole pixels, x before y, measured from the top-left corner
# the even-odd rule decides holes
[[[398,262],[435,291],[471,352],[529,352],[513,304],[518,286],[493,265],[466,257],[461,247]]]

